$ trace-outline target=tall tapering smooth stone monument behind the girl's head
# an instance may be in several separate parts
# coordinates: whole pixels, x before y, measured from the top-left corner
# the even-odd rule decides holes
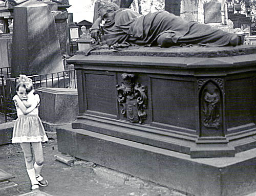
[[[63,71],[54,16],[45,3],[29,0],[14,7],[11,76]]]

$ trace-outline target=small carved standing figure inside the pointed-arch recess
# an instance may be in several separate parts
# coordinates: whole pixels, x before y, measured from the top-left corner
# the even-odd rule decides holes
[[[209,82],[203,93],[203,124],[205,127],[218,127],[221,124],[220,117],[220,92],[213,83]]]

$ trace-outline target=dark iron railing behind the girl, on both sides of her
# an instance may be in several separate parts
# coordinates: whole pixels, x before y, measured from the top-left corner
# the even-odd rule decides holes
[[[72,65],[65,66],[65,71],[50,74],[40,74],[28,76],[32,79],[34,89],[40,87],[47,88],[77,88],[76,71],[72,69]],[[3,68],[4,69],[4,68]],[[0,73],[2,70],[0,69]],[[0,81],[0,115],[4,115],[5,121],[16,118],[16,108],[12,101],[12,97],[16,94],[15,86],[18,77],[10,77],[10,68],[6,69],[7,74],[2,74]]]

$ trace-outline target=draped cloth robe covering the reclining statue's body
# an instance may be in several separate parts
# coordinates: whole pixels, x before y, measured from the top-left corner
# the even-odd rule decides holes
[[[228,45],[232,33],[186,21],[166,11],[140,15],[130,9],[120,9],[115,20],[103,26],[106,43],[109,46],[124,41],[137,46],[157,45],[156,40],[167,33],[166,40],[172,45],[202,43],[208,46]],[[166,35],[166,34],[165,34]]]

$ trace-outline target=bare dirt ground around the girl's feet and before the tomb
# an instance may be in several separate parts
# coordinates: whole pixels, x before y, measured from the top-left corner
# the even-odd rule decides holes
[[[75,159],[68,166],[55,159],[60,154],[56,140],[44,144],[45,164],[42,169],[49,185],[40,191],[54,196],[184,196],[180,192],[161,187],[152,182],[134,178],[123,173],[104,168],[92,162]],[[10,181],[18,184],[18,195],[31,192],[26,172],[23,151],[19,144],[0,146],[0,168],[15,176]],[[10,196],[10,195],[2,195]]]

